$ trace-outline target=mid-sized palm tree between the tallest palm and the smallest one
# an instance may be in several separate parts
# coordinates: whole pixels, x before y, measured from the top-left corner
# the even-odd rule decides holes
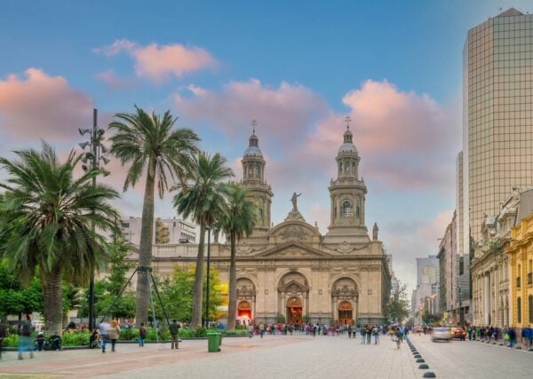
[[[195,171],[195,183],[174,197],[174,207],[184,217],[192,216],[200,224],[200,241],[196,257],[195,289],[192,325],[202,325],[203,300],[203,247],[205,230],[225,213],[225,195],[227,185],[224,180],[233,177],[233,171],[227,167],[227,160],[219,153],[212,157],[202,153],[198,157]]]

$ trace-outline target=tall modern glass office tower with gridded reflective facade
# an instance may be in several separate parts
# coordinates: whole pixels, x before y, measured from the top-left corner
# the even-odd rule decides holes
[[[457,241],[469,299],[467,269],[484,215],[497,215],[511,188],[533,186],[533,15],[510,8],[470,29],[463,59]]]

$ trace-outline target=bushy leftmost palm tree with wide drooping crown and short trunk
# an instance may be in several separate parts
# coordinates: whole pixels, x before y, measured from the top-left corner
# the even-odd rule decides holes
[[[7,171],[0,214],[0,256],[28,283],[38,272],[43,283],[44,320],[49,332],[63,321],[61,280],[85,285],[106,260],[102,234],[116,232],[116,211],[108,201],[119,194],[104,185],[92,186],[99,170],[74,178],[81,155],[70,152],[60,162],[53,148],[15,152],[17,160],[0,158]]]

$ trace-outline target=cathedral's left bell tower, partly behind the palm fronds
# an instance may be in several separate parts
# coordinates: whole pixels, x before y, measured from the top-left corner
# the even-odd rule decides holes
[[[258,208],[258,218],[253,234],[266,234],[270,228],[272,207],[272,187],[265,181],[265,165],[263,153],[259,149],[259,138],[255,134],[258,122],[251,122],[252,133],[250,145],[243,155],[243,186],[248,189],[248,197]]]

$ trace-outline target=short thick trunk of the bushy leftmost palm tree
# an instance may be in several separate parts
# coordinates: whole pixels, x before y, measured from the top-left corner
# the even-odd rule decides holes
[[[63,288],[60,267],[55,267],[43,283],[44,330],[51,334],[60,333],[63,329]]]

